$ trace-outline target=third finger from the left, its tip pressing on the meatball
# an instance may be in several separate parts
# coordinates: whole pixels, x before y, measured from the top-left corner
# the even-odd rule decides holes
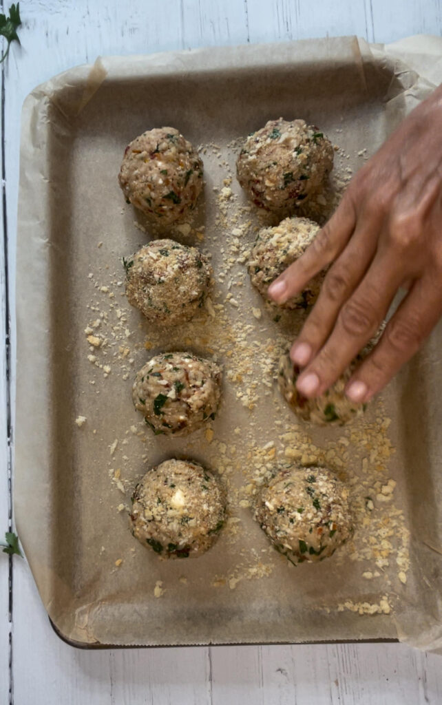
[[[374,258],[355,293],[340,309],[331,336],[297,379],[307,398],[319,396],[338,379],[372,338],[391,305],[403,271],[392,254]]]

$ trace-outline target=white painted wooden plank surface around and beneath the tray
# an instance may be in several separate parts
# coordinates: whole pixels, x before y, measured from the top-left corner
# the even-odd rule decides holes
[[[22,46],[13,45],[1,68],[11,312],[20,108],[38,83],[75,64],[94,61],[98,54],[351,34],[389,42],[421,32],[442,33],[441,0],[21,0],[20,10]],[[2,214],[0,199],[0,222]],[[9,522],[4,273],[1,243],[1,532]],[[11,326],[14,360],[13,321]],[[52,632],[30,571],[19,558],[13,560],[10,625],[8,578],[8,558],[0,554],[0,704],[442,703],[442,658],[401,644],[77,651]]]

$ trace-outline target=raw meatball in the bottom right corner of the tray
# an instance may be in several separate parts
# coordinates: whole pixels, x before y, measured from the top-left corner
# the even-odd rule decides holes
[[[325,467],[279,470],[258,496],[255,519],[293,563],[331,556],[352,534],[348,489]]]

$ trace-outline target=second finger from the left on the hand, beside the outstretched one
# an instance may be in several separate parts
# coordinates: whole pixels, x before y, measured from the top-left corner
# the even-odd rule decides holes
[[[350,298],[369,268],[376,250],[377,222],[357,228],[350,243],[324,278],[321,293],[300,335],[293,343],[290,357],[305,367],[317,355],[336,323],[340,308]]]

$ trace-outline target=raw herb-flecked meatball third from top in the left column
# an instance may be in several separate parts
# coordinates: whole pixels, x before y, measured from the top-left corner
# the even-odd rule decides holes
[[[190,353],[161,353],[140,369],[132,396],[155,434],[187,436],[214,419],[221,369]]]

